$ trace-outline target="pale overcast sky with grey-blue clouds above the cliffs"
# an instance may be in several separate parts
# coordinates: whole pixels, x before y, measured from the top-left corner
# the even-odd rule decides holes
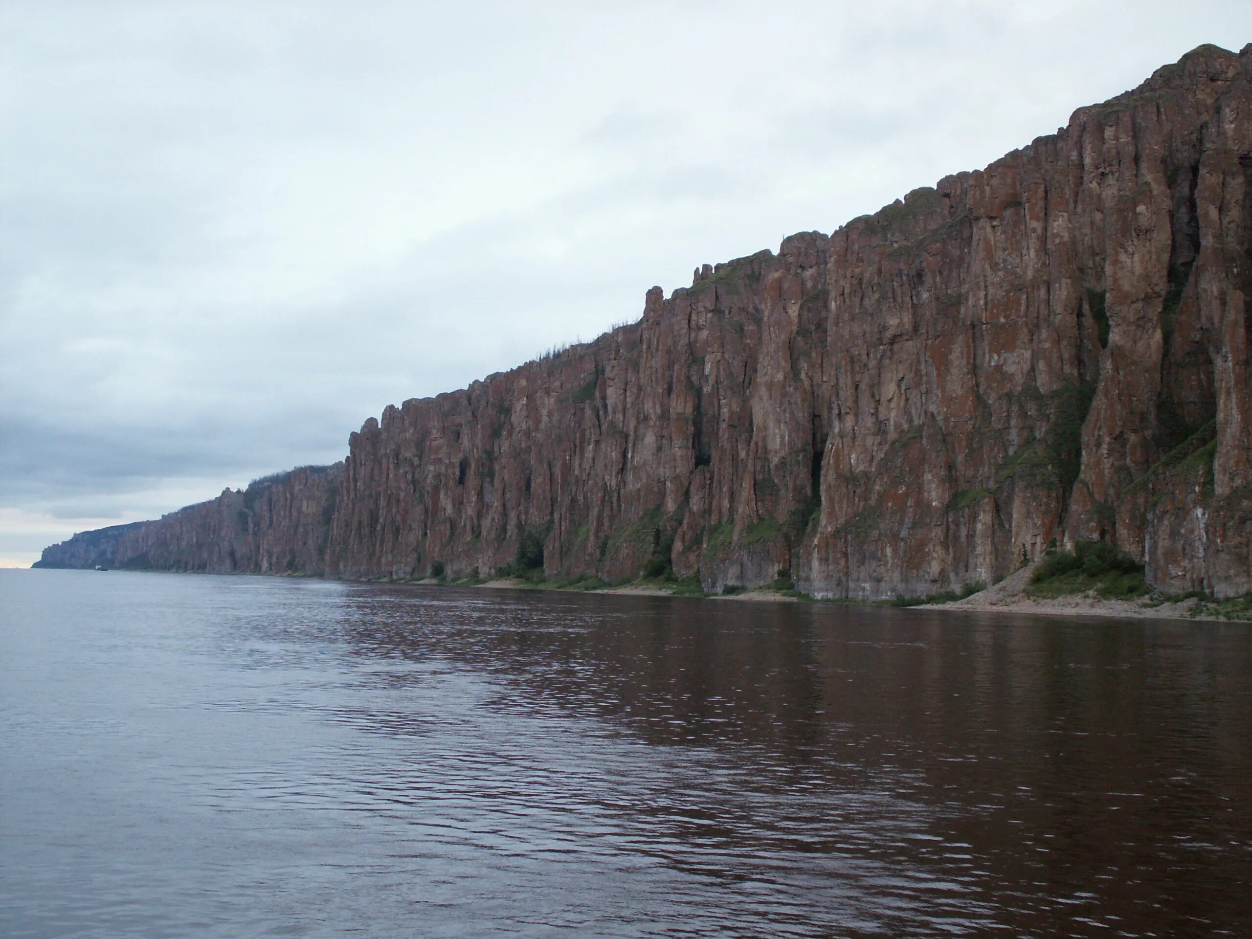
[[[1247,41],[1247,0],[0,0],[0,566]]]

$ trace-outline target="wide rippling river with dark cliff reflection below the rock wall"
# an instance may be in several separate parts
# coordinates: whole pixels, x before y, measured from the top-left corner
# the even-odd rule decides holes
[[[1252,935],[1252,630],[0,572],[0,935]]]

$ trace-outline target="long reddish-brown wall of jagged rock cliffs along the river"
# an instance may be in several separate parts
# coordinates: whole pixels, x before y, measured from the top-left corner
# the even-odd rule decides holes
[[[1202,46],[985,170],[388,407],[342,464],[41,563],[373,577],[521,558],[714,590],[789,568],[879,598],[1108,538],[1162,588],[1242,593],[1249,298],[1252,45]]]

